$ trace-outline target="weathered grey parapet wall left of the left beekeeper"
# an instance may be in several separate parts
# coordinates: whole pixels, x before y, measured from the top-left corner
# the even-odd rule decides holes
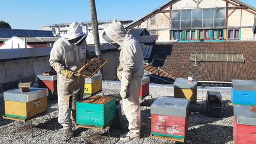
[[[37,75],[51,69],[49,57],[0,62],[0,91],[18,87],[20,81],[37,81]]]

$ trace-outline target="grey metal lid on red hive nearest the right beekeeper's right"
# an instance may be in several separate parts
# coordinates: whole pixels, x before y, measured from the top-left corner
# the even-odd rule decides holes
[[[189,100],[185,98],[159,97],[151,105],[151,114],[187,117]]]

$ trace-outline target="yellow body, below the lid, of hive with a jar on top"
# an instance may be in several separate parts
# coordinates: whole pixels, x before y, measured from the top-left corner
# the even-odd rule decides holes
[[[197,102],[197,89],[174,88],[174,97],[187,98],[191,103]]]

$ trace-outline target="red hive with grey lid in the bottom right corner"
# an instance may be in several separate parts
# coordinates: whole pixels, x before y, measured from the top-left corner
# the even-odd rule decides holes
[[[234,105],[233,139],[236,144],[256,143],[256,113],[249,105]]]

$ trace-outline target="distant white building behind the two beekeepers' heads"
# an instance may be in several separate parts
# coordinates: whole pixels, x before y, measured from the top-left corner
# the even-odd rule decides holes
[[[132,23],[133,21],[130,20],[119,20],[123,25],[127,25],[129,23]],[[99,33],[103,33],[103,25],[106,24],[110,24],[112,21],[99,21],[98,22],[98,30]],[[65,36],[65,34],[67,34],[68,32],[68,27],[69,27],[70,23],[66,23],[66,24],[53,24],[53,25],[46,25],[43,27],[43,30],[49,30],[49,31],[53,31],[53,35],[55,37],[62,37]],[[79,23],[79,25],[81,25],[82,30],[84,31],[84,33],[92,33],[92,23],[91,21],[89,22],[82,22]]]

